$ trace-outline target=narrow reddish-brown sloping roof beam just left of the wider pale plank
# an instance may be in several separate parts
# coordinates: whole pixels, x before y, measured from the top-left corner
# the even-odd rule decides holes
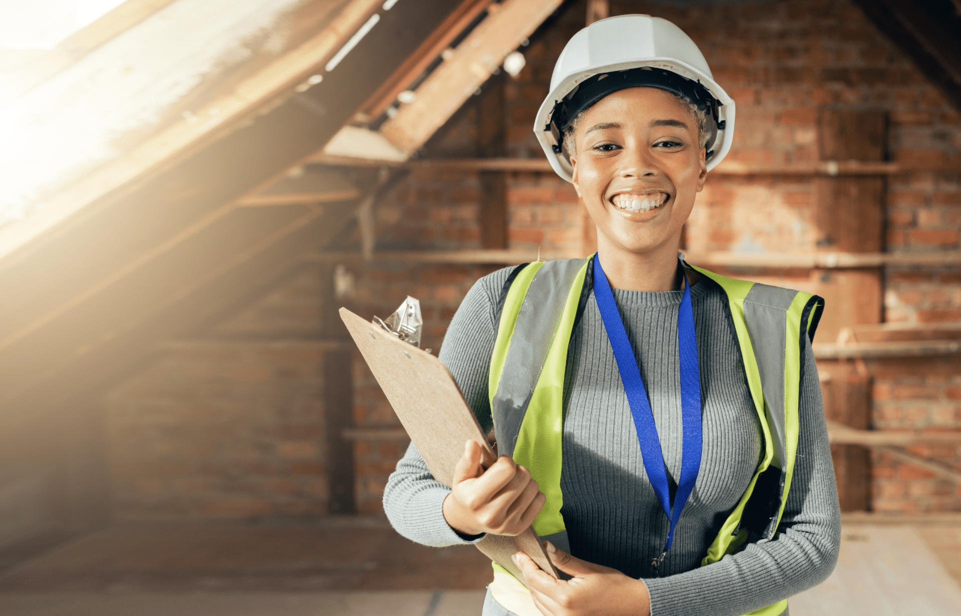
[[[424,43],[417,48],[389,79],[377,88],[367,101],[360,106],[355,119],[370,122],[383,113],[397,100],[397,95],[413,84],[451,42],[478,18],[493,0],[465,0],[444,22],[433,31]]]

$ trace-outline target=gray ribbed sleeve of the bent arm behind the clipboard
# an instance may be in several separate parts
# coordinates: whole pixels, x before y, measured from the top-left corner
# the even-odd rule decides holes
[[[454,375],[468,407],[485,431],[493,426],[487,375],[497,337],[494,307],[496,294],[509,271],[494,272],[468,291],[444,336],[438,356]],[[387,480],[383,510],[395,530],[417,543],[442,547],[480,541],[480,537],[474,541],[464,539],[444,519],[442,507],[450,491],[433,479],[424,458],[411,443],[397,463],[397,470]]]

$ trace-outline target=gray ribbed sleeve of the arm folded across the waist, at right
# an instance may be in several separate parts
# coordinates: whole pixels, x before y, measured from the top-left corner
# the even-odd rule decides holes
[[[814,354],[805,345],[794,479],[774,541],[706,567],[645,579],[653,616],[740,616],[824,581],[837,562],[841,514]]]

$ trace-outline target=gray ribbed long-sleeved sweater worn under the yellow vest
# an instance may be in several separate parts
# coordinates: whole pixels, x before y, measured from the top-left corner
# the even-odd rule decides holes
[[[497,335],[495,307],[509,269],[468,292],[444,338],[441,360],[485,430],[492,426],[487,373]],[[801,437],[794,480],[775,541],[700,567],[760,456],[760,425],[740,367],[723,289],[702,278],[691,289],[701,368],[701,472],[675,531],[674,546],[652,578],[651,559],[668,520],[647,479],[637,434],[593,293],[575,329],[565,382],[561,512],[574,555],[644,579],[655,616],[739,616],[795,595],[830,574],[840,542],[840,512],[810,345],[801,383]],[[678,476],[681,423],[677,320],[680,291],[614,289],[651,399],[664,461]],[[418,543],[469,543],[444,520],[449,490],[433,480],[411,445],[383,495],[391,524]]]

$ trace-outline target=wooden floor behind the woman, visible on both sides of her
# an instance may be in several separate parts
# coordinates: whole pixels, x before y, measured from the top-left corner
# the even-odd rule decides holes
[[[4,615],[476,616],[491,576],[472,547],[425,548],[357,518],[114,525],[16,554],[0,551]],[[791,615],[958,616],[959,582],[961,522],[849,523],[834,574]]]

